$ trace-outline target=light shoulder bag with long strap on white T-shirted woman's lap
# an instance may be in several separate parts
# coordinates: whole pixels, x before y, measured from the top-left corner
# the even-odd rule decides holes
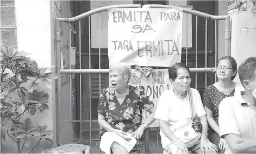
[[[193,99],[191,90],[189,88],[188,90],[189,94],[189,104],[190,104],[190,112],[191,112],[191,118],[183,124],[182,126],[179,126],[173,131],[173,134],[178,137],[182,142],[185,143],[187,148],[192,147],[193,145],[196,145],[201,140],[201,132],[196,131],[193,127],[193,119],[196,117],[194,114],[194,108],[193,108]],[[198,117],[198,116],[197,116]],[[201,123],[199,123],[201,125]],[[195,126],[195,124],[194,124]],[[201,125],[202,128],[202,125]]]

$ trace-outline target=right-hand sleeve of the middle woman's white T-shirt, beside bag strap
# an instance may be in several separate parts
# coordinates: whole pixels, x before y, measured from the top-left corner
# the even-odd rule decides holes
[[[191,89],[191,91],[197,116],[202,117],[203,115],[206,115],[200,93],[196,89]]]

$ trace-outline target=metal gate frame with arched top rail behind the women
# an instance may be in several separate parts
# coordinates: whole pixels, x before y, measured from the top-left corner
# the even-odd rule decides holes
[[[61,54],[60,54],[60,41],[61,41],[61,37],[60,37],[60,23],[72,23],[75,21],[80,21],[81,19],[84,19],[86,17],[90,17],[93,14],[97,14],[99,12],[102,11],[107,11],[108,9],[111,8],[142,8],[142,7],[148,7],[148,8],[172,8],[172,9],[182,9],[184,13],[186,14],[191,14],[191,15],[195,15],[195,16],[199,16],[199,17],[203,17],[205,19],[210,19],[215,21],[215,30],[216,30],[216,21],[218,20],[224,20],[226,21],[225,23],[225,42],[224,42],[224,46],[225,46],[225,56],[230,56],[231,52],[230,52],[230,17],[229,15],[221,15],[221,16],[215,16],[215,15],[209,15],[206,14],[204,12],[200,12],[200,11],[196,11],[196,10],[190,10],[187,8],[182,8],[182,7],[178,7],[178,6],[173,6],[173,5],[160,5],[160,4],[146,4],[141,6],[141,4],[124,4],[124,5],[109,5],[109,6],[104,6],[101,8],[97,8],[94,10],[90,10],[88,12],[85,12],[81,15],[75,16],[75,17],[71,17],[71,18],[55,18],[55,46],[56,46],[56,56],[57,56],[57,67],[56,67],[56,71],[57,74],[59,76],[59,78],[57,79],[56,82],[56,87],[57,87],[57,108],[58,113],[57,113],[57,143],[61,143],[62,141],[62,136],[61,136],[61,125],[62,125],[62,120],[61,120],[61,73],[89,73],[89,75],[91,73],[108,73],[109,70],[108,69],[81,69],[81,61],[80,61],[80,69],[66,69],[66,70],[61,70]],[[89,23],[90,24],[90,23]],[[80,25],[80,22],[79,22]],[[90,26],[90,25],[89,25]],[[187,25],[188,26],[188,25]],[[80,30],[80,26],[79,26],[79,30]],[[216,34],[216,31],[215,31]],[[80,34],[79,34],[79,38],[80,38]],[[207,40],[207,38],[205,38]],[[215,38],[216,40],[216,38]],[[80,39],[79,39],[80,41]],[[215,42],[216,43],[216,42]],[[80,44],[79,44],[80,45]],[[90,44],[89,44],[90,45]],[[196,44],[197,45],[197,44]],[[100,46],[99,46],[100,48]],[[186,48],[187,49],[187,48]],[[197,49],[196,49],[197,50]],[[215,49],[217,51],[217,49]],[[79,51],[81,51],[81,48],[79,46]],[[79,52],[81,53],[81,52]],[[186,50],[186,54],[188,53],[188,51]],[[70,53],[71,55],[71,53]],[[81,54],[79,54],[79,57],[81,56]],[[186,56],[187,57],[187,56]],[[216,58],[216,55],[215,55]],[[215,65],[216,65],[216,59],[215,59]],[[90,66],[90,65],[89,65]],[[207,65],[205,65],[207,66]],[[215,72],[216,69],[215,68],[190,68],[191,72]],[[215,79],[216,81],[216,79]],[[206,84],[206,82],[205,82]],[[100,86],[101,87],[101,86]],[[91,98],[91,97],[90,97]],[[91,108],[91,106],[90,106]],[[81,110],[81,109],[80,109]],[[91,116],[91,115],[90,115]],[[80,118],[82,117],[82,115],[80,115]],[[72,119],[70,119],[70,123],[72,122]],[[80,119],[80,127],[82,127],[82,119]],[[91,121],[90,121],[90,126],[91,126]],[[72,129],[71,129],[72,130]],[[82,132],[82,130],[80,130],[80,132]],[[72,134],[72,133],[71,133]],[[82,133],[81,135],[82,136]],[[80,138],[81,143],[82,143],[82,138]],[[90,141],[91,141],[91,133],[90,133]],[[157,141],[158,142],[158,141]],[[91,142],[90,142],[90,146],[91,146]],[[146,129],[145,130],[145,153],[149,153],[149,130]]]

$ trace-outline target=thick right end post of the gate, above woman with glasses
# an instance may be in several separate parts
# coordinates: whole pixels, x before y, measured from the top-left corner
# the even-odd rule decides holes
[[[225,23],[225,56],[231,56],[230,51],[230,16],[226,18]]]

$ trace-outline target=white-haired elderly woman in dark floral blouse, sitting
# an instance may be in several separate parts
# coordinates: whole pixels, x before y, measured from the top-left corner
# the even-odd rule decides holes
[[[155,106],[145,93],[128,85],[132,69],[116,63],[109,68],[110,87],[100,93],[98,123],[102,127],[99,147],[105,153],[139,151],[143,131],[154,122]],[[141,124],[142,109],[151,113]]]

